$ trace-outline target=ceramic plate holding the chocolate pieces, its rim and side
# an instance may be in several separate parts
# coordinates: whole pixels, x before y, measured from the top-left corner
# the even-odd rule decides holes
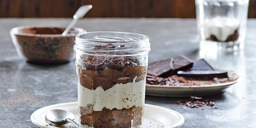
[[[224,92],[226,88],[237,83],[239,77],[234,71],[228,71],[228,77],[233,81],[213,85],[168,86],[146,84],[146,95],[163,97],[206,96]]]

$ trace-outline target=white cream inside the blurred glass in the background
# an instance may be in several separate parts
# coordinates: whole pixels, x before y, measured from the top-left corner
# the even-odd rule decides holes
[[[229,35],[233,35],[235,30],[239,29],[240,25],[238,19],[219,16],[212,19],[207,19],[205,22],[205,37],[209,38],[211,35],[214,35],[221,42],[225,42]]]

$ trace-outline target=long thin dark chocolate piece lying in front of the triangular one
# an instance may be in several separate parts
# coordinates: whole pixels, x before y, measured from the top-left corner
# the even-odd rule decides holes
[[[207,70],[191,70],[178,71],[178,76],[185,78],[196,78],[204,80],[212,80],[213,78],[228,78],[227,71],[207,71]]]

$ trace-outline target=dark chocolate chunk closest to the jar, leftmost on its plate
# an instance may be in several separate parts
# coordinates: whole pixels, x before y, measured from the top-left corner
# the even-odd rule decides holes
[[[147,73],[153,76],[173,74],[173,58],[150,64]]]

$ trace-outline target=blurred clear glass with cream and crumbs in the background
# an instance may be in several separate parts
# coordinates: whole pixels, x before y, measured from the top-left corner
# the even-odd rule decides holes
[[[195,0],[201,49],[244,47],[249,0]]]

